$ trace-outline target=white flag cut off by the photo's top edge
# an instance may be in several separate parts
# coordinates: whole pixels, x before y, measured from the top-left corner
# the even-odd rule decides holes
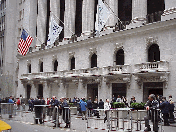
[[[107,22],[110,14],[111,13],[109,9],[105,6],[102,0],[98,0],[95,30],[101,31],[101,29],[104,27],[105,23]]]

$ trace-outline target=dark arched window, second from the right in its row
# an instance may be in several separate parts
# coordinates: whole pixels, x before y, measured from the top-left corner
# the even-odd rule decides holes
[[[116,65],[124,65],[124,51],[120,49],[116,53]]]

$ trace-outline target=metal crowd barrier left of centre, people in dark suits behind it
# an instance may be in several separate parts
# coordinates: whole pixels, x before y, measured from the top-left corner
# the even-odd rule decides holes
[[[60,109],[59,107],[51,107],[50,105],[34,105],[35,107],[41,107],[40,118],[36,117],[36,112],[34,116],[34,124],[36,120],[41,120],[41,124],[55,123],[56,127],[60,127],[60,124],[69,123],[69,128],[71,128],[71,110],[69,107],[64,107]],[[48,116],[48,119],[46,118]]]

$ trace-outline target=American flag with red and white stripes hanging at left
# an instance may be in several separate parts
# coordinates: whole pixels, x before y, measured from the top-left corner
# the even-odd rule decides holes
[[[28,35],[28,33],[23,29],[22,35],[21,35],[21,39],[20,42],[18,44],[18,52],[25,56],[29,46],[32,43],[33,38],[31,36]]]

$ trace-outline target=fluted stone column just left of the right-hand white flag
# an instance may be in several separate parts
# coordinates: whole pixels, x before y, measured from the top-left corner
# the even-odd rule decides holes
[[[94,29],[94,7],[95,0],[83,0],[82,31],[85,35],[89,35]]]

